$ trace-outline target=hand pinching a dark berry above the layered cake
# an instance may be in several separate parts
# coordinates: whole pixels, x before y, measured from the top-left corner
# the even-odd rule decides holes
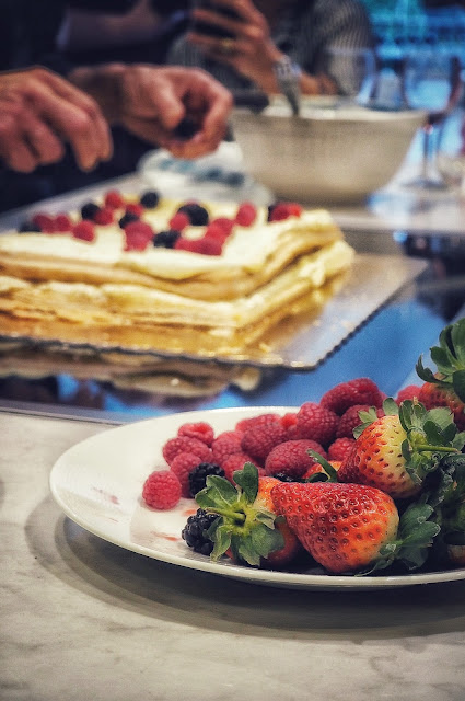
[[[114,64],[79,69],[73,80],[102,101],[111,123],[176,158],[209,153],[224,137],[232,95],[205,71]],[[176,129],[186,118],[195,133],[183,137]]]

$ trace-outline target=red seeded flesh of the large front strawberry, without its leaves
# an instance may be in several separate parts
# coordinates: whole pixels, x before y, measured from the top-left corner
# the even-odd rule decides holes
[[[381,490],[282,482],[275,485],[271,498],[305,550],[328,572],[357,572],[374,564],[382,547],[397,536],[396,505]]]

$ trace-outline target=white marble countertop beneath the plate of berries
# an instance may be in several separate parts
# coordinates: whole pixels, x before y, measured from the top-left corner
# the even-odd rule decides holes
[[[0,413],[1,701],[465,698],[465,583],[274,589],[159,563],[72,524],[50,468],[105,429]]]

